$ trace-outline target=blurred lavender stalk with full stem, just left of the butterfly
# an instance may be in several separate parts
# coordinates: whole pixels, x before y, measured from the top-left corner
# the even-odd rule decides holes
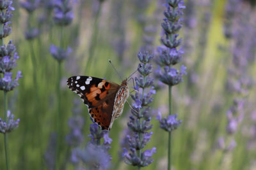
[[[67,57],[72,52],[71,48],[67,47],[65,49],[64,43],[64,36],[63,36],[63,29],[67,25],[70,25],[74,15],[72,11],[72,2],[70,0],[58,0],[55,1],[54,4],[54,15],[53,21],[54,24],[60,27],[60,46],[51,45],[50,46],[50,53],[54,59],[58,62],[58,71],[57,71],[57,82],[56,82],[56,97],[57,97],[57,114],[56,114],[56,167],[55,169],[61,169],[60,167],[60,152],[61,152],[61,141],[63,138],[63,134],[61,131],[61,122],[63,122],[63,118],[61,117],[61,89],[60,89],[60,82],[61,82],[61,66],[62,62],[67,59]]]

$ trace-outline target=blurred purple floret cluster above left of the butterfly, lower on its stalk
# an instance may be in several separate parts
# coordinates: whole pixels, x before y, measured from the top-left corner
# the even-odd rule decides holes
[[[50,53],[52,57],[59,62],[67,59],[67,57],[72,53],[72,49],[70,47],[67,48],[67,50],[64,50],[63,48],[60,48],[55,45],[50,46]]]

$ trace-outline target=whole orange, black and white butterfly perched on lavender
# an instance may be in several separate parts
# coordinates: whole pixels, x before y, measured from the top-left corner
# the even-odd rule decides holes
[[[122,115],[124,104],[129,97],[127,79],[121,85],[92,76],[72,76],[68,78],[70,90],[81,97],[88,106],[93,122],[102,130],[110,130],[116,118]]]

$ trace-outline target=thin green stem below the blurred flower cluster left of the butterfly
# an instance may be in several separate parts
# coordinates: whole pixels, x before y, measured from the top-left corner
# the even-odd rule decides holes
[[[61,141],[61,98],[60,98],[60,81],[61,81],[61,62],[58,62],[58,79],[56,84],[57,101],[58,101],[58,113],[56,118],[56,131],[57,131],[57,146],[56,146],[56,166],[58,169],[58,160],[60,159],[60,141]]]

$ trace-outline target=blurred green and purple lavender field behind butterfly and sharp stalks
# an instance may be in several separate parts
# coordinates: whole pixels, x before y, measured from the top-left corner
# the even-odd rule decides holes
[[[19,127],[8,135],[10,169],[52,169],[52,136],[58,118],[58,62],[51,56],[51,44],[70,46],[72,52],[61,65],[61,131],[63,169],[74,169],[68,118],[74,111],[84,119],[84,146],[92,123],[87,107],[71,92],[67,78],[89,75],[121,83],[138,67],[138,52],[147,48],[156,54],[163,34],[164,1],[97,0],[73,1],[72,24],[61,29],[52,22],[52,9],[42,0],[33,13],[13,1],[12,34],[20,59],[15,71],[22,71],[19,87],[8,92],[8,110],[20,118]],[[233,3],[233,4],[232,4]],[[187,0],[180,31],[187,67],[184,81],[173,87],[173,113],[182,125],[173,131],[173,169],[256,169],[255,45],[256,13],[249,1]],[[28,39],[31,27],[40,34]],[[155,55],[157,57],[157,54]],[[35,59],[35,60],[34,60]],[[156,64],[154,64],[156,66]],[[157,67],[156,67],[157,68]],[[157,80],[155,82],[157,84]],[[132,82],[129,82],[132,87]],[[167,87],[159,85],[152,103],[154,162],[144,169],[165,169],[168,134],[159,128],[155,115],[168,115]],[[1,94],[1,108],[3,108]],[[128,99],[131,102],[131,97]],[[230,112],[232,113],[230,115]],[[1,111],[2,113],[2,111]],[[131,109],[125,105],[122,117],[113,124],[109,153],[111,169],[134,169],[121,159],[122,140]],[[2,115],[1,115],[2,117]],[[3,135],[0,135],[0,169],[5,169]],[[51,154],[50,154],[51,155]],[[52,162],[50,161],[52,160]]]

